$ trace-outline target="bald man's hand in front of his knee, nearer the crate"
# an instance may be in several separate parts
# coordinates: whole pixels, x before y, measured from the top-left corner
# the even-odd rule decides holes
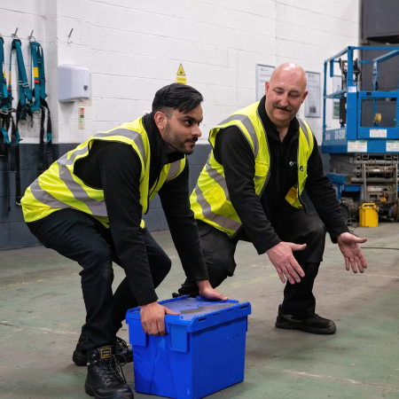
[[[293,257],[293,251],[303,251],[305,248],[306,244],[293,244],[293,242],[282,241],[266,251],[282,283],[285,283],[286,279],[290,284],[295,284],[295,281],[299,283],[301,278],[305,277],[300,264]]]

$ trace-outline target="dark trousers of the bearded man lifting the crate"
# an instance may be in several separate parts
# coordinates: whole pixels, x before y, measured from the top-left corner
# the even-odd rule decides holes
[[[88,338],[82,343],[82,350],[113,345],[126,311],[137,307],[137,300],[127,278],[113,294],[113,262],[119,262],[109,229],[90,215],[74,209],[53,212],[39,222],[27,223],[27,226],[43,246],[82,266],[79,274],[86,306],[82,334]],[[143,236],[153,285],[157,287],[168,275],[171,262],[147,229]]]

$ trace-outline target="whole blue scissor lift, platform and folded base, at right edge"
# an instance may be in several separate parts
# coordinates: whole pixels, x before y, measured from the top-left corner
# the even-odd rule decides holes
[[[387,52],[374,59],[354,60],[355,51]],[[345,56],[346,59],[342,59]],[[399,47],[350,46],[325,60],[322,152],[330,153],[331,173],[327,176],[347,219],[355,215],[364,202],[375,203],[380,215],[399,219],[399,89],[379,90],[379,65],[396,56],[399,56]],[[372,64],[372,90],[359,90],[364,64]],[[334,69],[340,71],[340,90],[327,94],[327,72],[332,78]],[[340,128],[327,129],[328,98],[339,100]],[[387,104],[383,102],[391,101],[396,104],[395,115],[390,121],[383,121],[385,127],[381,127],[380,109],[385,113]],[[363,126],[364,119],[369,119],[372,126]]]

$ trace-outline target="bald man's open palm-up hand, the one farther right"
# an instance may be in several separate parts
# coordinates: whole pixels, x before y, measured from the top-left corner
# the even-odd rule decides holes
[[[348,232],[344,232],[338,236],[337,241],[340,252],[344,255],[347,270],[351,266],[354,273],[357,273],[357,269],[363,273],[364,269],[367,268],[367,262],[359,244],[366,242],[367,239],[359,239]]]

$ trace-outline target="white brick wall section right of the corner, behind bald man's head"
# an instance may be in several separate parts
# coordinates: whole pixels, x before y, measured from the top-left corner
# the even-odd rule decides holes
[[[359,7],[358,0],[276,1],[276,64],[292,60],[309,72],[320,73],[323,89],[324,60],[359,43]],[[331,87],[327,86],[329,92]],[[300,114],[304,117],[303,110]],[[338,128],[339,121],[332,119],[332,100],[327,100],[326,114],[327,126]],[[307,121],[321,144],[323,119]]]

